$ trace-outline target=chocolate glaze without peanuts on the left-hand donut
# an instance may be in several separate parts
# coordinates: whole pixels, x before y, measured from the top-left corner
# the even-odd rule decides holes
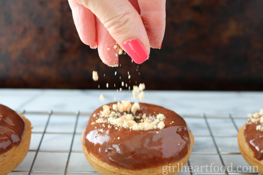
[[[0,104],[0,154],[19,145],[25,126],[25,121],[21,116]]]

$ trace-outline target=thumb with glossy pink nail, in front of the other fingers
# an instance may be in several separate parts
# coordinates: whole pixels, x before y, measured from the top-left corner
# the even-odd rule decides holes
[[[139,13],[128,0],[77,0],[102,22],[135,63],[148,59],[150,43]]]

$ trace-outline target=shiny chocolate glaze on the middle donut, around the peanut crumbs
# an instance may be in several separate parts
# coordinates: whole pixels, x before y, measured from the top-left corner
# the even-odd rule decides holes
[[[140,108],[136,115],[164,114],[164,129],[130,130],[118,127],[116,130],[111,124],[112,128],[108,128],[108,123],[105,127],[98,123],[91,125],[97,119],[93,114],[98,114],[102,110],[100,107],[90,116],[82,144],[101,161],[125,169],[169,165],[185,157],[190,148],[190,136],[184,119],[175,112],[156,105],[140,103]]]

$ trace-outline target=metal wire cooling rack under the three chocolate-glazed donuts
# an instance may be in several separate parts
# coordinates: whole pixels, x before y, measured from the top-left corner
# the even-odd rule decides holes
[[[90,113],[29,112],[32,138],[23,162],[10,174],[98,174],[88,164],[80,137]],[[181,115],[195,137],[187,165],[179,175],[258,174],[240,154],[237,131],[246,122],[244,115]],[[176,171],[167,165],[163,174]]]

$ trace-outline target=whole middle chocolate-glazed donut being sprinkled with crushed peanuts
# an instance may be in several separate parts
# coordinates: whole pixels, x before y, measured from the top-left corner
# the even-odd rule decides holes
[[[96,109],[81,142],[87,161],[101,175],[155,175],[179,173],[190,157],[194,137],[174,111],[122,101]]]

